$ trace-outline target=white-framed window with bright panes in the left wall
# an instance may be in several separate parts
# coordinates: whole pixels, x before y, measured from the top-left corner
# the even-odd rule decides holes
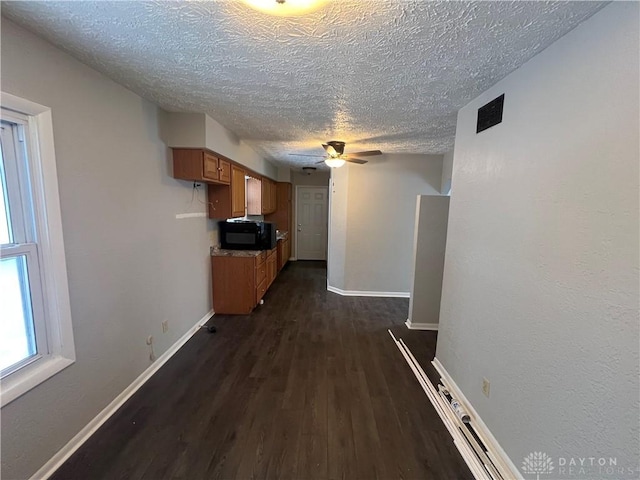
[[[9,403],[75,360],[51,111],[2,94],[0,396]]]

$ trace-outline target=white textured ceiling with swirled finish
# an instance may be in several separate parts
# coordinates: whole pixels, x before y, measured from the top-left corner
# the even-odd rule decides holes
[[[334,0],[305,17],[239,0],[3,2],[2,14],[170,111],[205,112],[265,158],[443,153],[456,112],[597,2]]]

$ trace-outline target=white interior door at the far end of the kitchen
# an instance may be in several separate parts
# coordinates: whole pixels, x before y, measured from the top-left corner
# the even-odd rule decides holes
[[[327,259],[327,187],[296,188],[296,257]]]

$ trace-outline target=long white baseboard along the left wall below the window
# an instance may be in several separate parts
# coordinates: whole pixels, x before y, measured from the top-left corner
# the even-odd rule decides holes
[[[171,345],[169,349],[160,355],[155,362],[142,372],[127,388],[125,388],[113,401],[107,405],[93,420],[91,420],[75,437],[67,442],[58,452],[49,459],[36,473],[33,474],[31,480],[46,480],[60,466],[73,455],[78,448],[86,442],[131,396],[136,393],[147,380],[149,380],[167,360],[169,360],[189,340],[209,319],[214,315],[213,310],[209,311],[204,317],[198,320],[187,333],[180,337],[176,343]]]

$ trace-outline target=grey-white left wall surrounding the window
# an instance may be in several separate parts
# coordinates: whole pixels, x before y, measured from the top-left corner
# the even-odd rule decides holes
[[[204,209],[156,106],[5,19],[1,80],[52,108],[77,353],[2,408],[2,477],[28,478],[149,366],[148,335],[160,355],[210,310],[209,224],[175,219]]]

